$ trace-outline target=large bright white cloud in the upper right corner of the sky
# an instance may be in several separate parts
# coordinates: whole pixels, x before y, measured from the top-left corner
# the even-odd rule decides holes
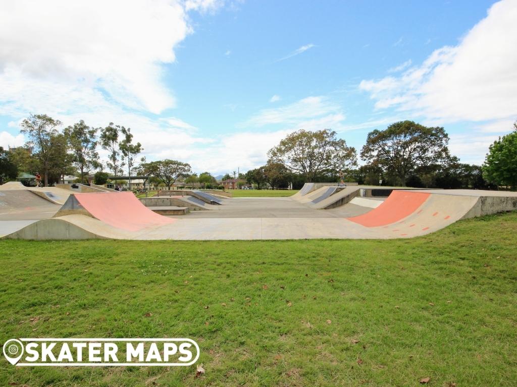
[[[440,122],[517,118],[517,3],[494,4],[457,46],[434,51],[401,76],[363,80],[377,109]]]

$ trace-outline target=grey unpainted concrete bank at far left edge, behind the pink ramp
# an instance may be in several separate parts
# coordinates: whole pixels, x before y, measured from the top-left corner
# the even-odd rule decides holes
[[[50,218],[58,209],[59,205],[39,197],[28,189],[7,189],[0,191],[0,220],[37,220]]]

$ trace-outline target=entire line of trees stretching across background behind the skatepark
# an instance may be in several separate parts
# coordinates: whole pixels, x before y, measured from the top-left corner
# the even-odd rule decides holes
[[[140,142],[133,141],[128,127],[110,122],[105,127],[88,126],[83,120],[62,128],[62,122],[47,115],[31,115],[21,123],[28,138],[24,147],[6,151],[0,148],[0,183],[16,179],[19,171],[39,171],[44,186],[57,183],[65,175],[79,174],[84,182],[93,170],[96,184],[104,184],[98,147],[108,153],[105,168],[112,176],[122,173],[150,176],[150,183],[163,183],[169,189],[180,179],[184,185],[217,187],[209,172],[193,173],[188,163],[164,159],[146,162],[139,154]],[[400,121],[385,130],[374,130],[360,151],[364,165],[358,165],[357,151],[348,147],[337,133],[300,130],[287,135],[271,148],[266,165],[223,180],[239,178],[257,188],[269,185],[299,188],[306,182],[345,181],[359,184],[412,186],[425,188],[496,189],[517,188],[517,123],[514,131],[495,141],[482,166],[460,163],[451,155],[449,136],[443,127],[426,127],[413,121]]]

